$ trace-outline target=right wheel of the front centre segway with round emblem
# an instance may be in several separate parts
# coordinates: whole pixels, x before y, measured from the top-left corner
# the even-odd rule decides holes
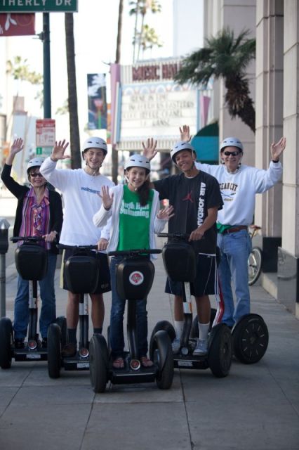
[[[150,357],[159,367],[156,377],[157,386],[159,389],[169,389],[173,384],[174,368],[171,340],[166,330],[159,330],[155,333]]]

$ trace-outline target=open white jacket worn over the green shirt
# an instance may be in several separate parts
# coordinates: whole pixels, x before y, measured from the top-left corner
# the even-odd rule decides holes
[[[113,188],[109,188],[109,194],[113,193],[113,203],[112,207],[107,211],[103,207],[96,212],[93,216],[93,223],[95,226],[103,226],[107,223],[108,219],[112,217],[112,224],[110,230],[110,240],[107,247],[107,252],[117,250],[117,245],[119,243],[119,210],[121,208],[121,200],[124,197],[124,185],[119,184]],[[161,233],[167,220],[162,220],[157,218],[157,213],[159,212],[159,193],[154,191],[154,197],[152,200],[152,209],[150,216],[150,248],[157,248],[156,239],[154,233]],[[155,255],[151,255],[152,259],[156,259]]]

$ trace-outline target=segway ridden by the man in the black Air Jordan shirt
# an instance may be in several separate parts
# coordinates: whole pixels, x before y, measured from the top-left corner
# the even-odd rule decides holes
[[[192,301],[190,282],[196,276],[196,254],[187,242],[189,235],[185,233],[159,233],[159,237],[168,238],[164,245],[162,257],[168,276],[174,281],[182,283],[184,326],[180,338],[180,350],[173,355],[175,368],[206,369],[210,368],[215,377],[222,378],[230,372],[232,364],[232,336],[230,328],[220,323],[224,305],[222,298],[215,295],[218,302],[214,311],[213,323],[208,334],[208,352],[205,355],[193,355],[197,345],[197,318],[192,322]],[[154,351],[154,334],[159,330],[166,330],[171,341],[175,339],[175,329],[168,321],[159,321],[154,327],[150,340],[150,356]]]

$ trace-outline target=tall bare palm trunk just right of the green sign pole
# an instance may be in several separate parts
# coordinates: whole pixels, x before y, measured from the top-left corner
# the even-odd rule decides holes
[[[74,53],[74,17],[72,13],[65,13],[65,43],[67,49],[67,89],[69,106],[69,135],[72,157],[71,167],[72,169],[79,169],[79,167],[81,167],[81,153]]]

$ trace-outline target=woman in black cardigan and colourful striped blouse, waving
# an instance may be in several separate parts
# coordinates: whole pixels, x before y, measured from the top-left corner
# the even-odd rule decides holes
[[[46,348],[48,326],[56,317],[54,276],[58,250],[55,243],[58,242],[62,227],[62,201],[59,193],[48,189],[46,179],[39,172],[42,158],[34,158],[27,164],[29,187],[18,184],[13,179],[11,176],[13,160],[23,148],[22,139],[13,141],[1,179],[8,191],[18,198],[13,236],[41,236],[44,240],[39,245],[48,250],[48,271],[45,278],[39,281],[42,301],[39,331],[42,338],[41,345]],[[19,275],[13,323],[15,347],[19,349],[24,347],[27,335],[28,301],[29,283]]]

